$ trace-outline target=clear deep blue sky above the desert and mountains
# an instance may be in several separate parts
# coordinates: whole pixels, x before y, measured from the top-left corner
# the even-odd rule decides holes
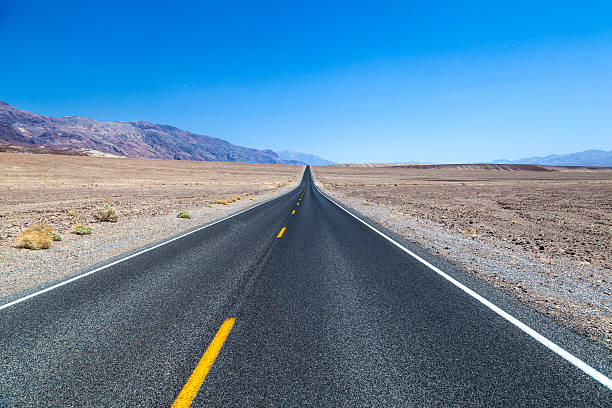
[[[0,0],[0,100],[341,162],[612,150],[610,1],[90,3]]]

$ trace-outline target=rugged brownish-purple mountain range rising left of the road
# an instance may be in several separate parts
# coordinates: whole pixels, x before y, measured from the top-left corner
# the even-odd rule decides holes
[[[54,118],[0,101],[0,143],[72,149],[93,155],[246,163],[291,163],[272,150],[237,146],[151,122],[98,122],[81,116]]]

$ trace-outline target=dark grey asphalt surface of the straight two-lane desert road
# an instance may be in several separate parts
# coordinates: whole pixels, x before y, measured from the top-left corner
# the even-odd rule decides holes
[[[228,317],[194,407],[612,406],[306,171],[281,198],[1,310],[0,407],[169,407]]]

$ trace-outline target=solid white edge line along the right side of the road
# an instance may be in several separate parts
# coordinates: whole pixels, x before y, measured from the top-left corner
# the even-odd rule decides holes
[[[402,244],[400,244],[399,242],[395,241],[393,238],[385,235],[384,233],[382,233],[381,231],[377,230],[376,228],[374,228],[373,226],[371,226],[370,224],[368,224],[367,222],[365,222],[361,218],[357,217],[355,214],[351,213],[346,208],[344,208],[341,205],[339,205],[338,203],[336,203],[334,200],[329,198],[327,195],[321,193],[319,188],[315,185],[314,181],[313,181],[312,184],[314,185],[314,187],[317,189],[317,191],[323,197],[325,197],[331,203],[336,205],[338,208],[342,209],[347,214],[351,215],[353,218],[357,219],[359,222],[364,224],[366,227],[370,228],[372,231],[376,232],[378,235],[382,236],[387,241],[391,242],[393,245],[397,246],[399,249],[401,249],[402,251],[406,252],[408,255],[412,256],[413,258],[415,258],[417,261],[421,262],[423,265],[427,266],[432,271],[436,272],[438,275],[442,276],[444,279],[446,279],[447,281],[449,281],[453,285],[457,286],[459,289],[461,289],[462,291],[464,291],[465,293],[467,293],[468,295],[470,295],[474,299],[478,300],[480,303],[482,303],[483,305],[485,305],[486,307],[488,307],[489,309],[491,309],[492,311],[497,313],[499,316],[503,317],[504,319],[506,319],[507,321],[512,323],[514,326],[516,326],[519,329],[521,329],[523,332],[525,332],[526,334],[528,334],[529,336],[534,338],[536,341],[538,341],[539,343],[544,345],[546,348],[548,348],[549,350],[553,351],[557,355],[561,356],[562,358],[564,358],[565,360],[567,360],[568,362],[570,362],[571,364],[573,364],[574,366],[576,366],[577,368],[582,370],[585,374],[591,376],[593,379],[598,381],[604,387],[612,390],[612,379],[610,379],[606,375],[600,373],[599,371],[597,371],[596,369],[594,369],[593,367],[591,367],[590,365],[588,365],[587,363],[585,363],[584,361],[579,359],[578,357],[576,357],[573,354],[571,354],[569,351],[561,348],[557,344],[555,344],[552,341],[548,340],[546,337],[544,337],[543,335],[541,335],[540,333],[538,333],[537,331],[535,331],[531,327],[527,326],[525,323],[521,322],[516,317],[512,316],[511,314],[507,313],[506,311],[502,310],[501,308],[495,306],[493,303],[491,303],[490,301],[488,301],[484,297],[480,296],[478,293],[474,292],[472,289],[468,288],[467,286],[465,286],[461,282],[457,281],[453,277],[451,277],[451,276],[447,275],[446,273],[442,272],[440,269],[436,268],[435,266],[433,266],[432,264],[430,264],[429,262],[427,262],[426,260],[424,260],[423,258],[418,256],[414,252],[410,251],[408,248],[404,247]]]

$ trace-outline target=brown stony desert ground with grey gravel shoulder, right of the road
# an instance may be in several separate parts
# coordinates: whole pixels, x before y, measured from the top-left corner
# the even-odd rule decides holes
[[[313,170],[327,194],[612,348],[612,168]]]

